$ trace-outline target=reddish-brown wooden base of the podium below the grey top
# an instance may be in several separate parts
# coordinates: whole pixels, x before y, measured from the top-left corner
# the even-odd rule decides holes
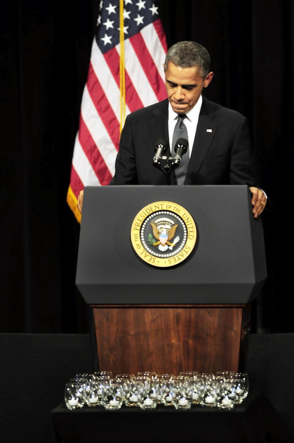
[[[239,368],[250,305],[100,305],[100,370],[216,373]]]

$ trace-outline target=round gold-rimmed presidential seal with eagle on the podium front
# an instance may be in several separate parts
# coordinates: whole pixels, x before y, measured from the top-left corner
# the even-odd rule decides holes
[[[155,202],[135,216],[131,241],[139,257],[153,266],[181,263],[196,243],[196,225],[189,212],[173,202]]]

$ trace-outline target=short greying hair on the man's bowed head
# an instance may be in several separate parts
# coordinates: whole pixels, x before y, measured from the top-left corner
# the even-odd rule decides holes
[[[167,51],[164,62],[164,70],[167,69],[168,62],[181,68],[191,68],[198,66],[200,75],[205,78],[209,73],[210,57],[207,49],[196,42],[178,42]]]

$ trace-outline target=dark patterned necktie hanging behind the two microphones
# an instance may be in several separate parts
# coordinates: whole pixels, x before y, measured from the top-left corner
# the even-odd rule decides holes
[[[174,170],[174,175],[176,177],[177,185],[183,185],[186,180],[186,175],[188,171],[189,166],[189,160],[190,160],[190,152],[189,152],[189,140],[188,140],[188,131],[186,128],[186,124],[183,122],[183,120],[186,118],[186,114],[179,114],[178,115],[178,121],[174,127],[174,134],[173,134],[173,145],[171,148],[171,155],[175,155],[174,152],[174,145],[178,141],[179,138],[185,138],[188,141],[188,148],[185,152],[185,154],[182,156],[182,160],[178,167]]]

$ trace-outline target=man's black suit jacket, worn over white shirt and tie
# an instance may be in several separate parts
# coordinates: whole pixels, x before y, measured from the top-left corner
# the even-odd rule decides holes
[[[205,97],[202,99],[185,185],[258,187],[247,119]],[[173,175],[167,177],[152,164],[159,138],[166,140],[170,155],[167,99],[128,115],[110,184],[175,184]]]

